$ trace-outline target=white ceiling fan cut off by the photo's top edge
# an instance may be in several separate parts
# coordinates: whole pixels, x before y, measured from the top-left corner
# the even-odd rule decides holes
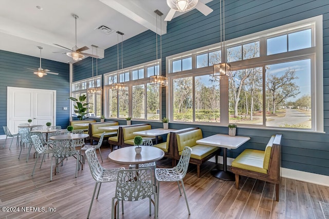
[[[184,12],[196,8],[206,16],[213,11],[204,3],[199,2],[199,0],[167,0],[167,5],[170,7],[170,11],[166,16],[165,21],[171,21],[176,11]]]

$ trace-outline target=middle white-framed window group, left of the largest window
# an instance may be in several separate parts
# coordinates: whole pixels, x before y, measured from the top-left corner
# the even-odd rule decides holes
[[[119,76],[120,82],[124,82],[124,90],[112,90],[110,87],[117,83],[117,72],[104,74],[106,117],[159,121],[160,89],[149,83],[151,76],[159,75],[159,61],[125,68],[122,72],[125,72],[125,79],[132,79],[124,80],[123,74]]]

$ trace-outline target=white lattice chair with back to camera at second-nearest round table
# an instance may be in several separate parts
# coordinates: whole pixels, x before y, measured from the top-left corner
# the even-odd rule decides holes
[[[75,157],[77,159],[76,164],[76,178],[78,176],[78,167],[79,167],[79,150],[76,150],[74,145],[71,144],[70,140],[54,140],[53,148],[52,148],[52,157],[56,158],[56,166],[55,166],[55,175],[58,170],[58,165],[63,163],[65,158],[67,157]],[[50,169],[50,181],[52,181],[52,157],[51,157],[51,169]]]

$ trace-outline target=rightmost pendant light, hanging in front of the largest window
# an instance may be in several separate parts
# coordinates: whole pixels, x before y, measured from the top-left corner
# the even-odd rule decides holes
[[[225,0],[223,0],[223,40],[222,40],[222,0],[220,1],[220,15],[221,15],[221,50],[223,56],[223,50],[225,49]],[[219,63],[213,65],[214,76],[228,76],[231,77],[231,65],[229,63]]]

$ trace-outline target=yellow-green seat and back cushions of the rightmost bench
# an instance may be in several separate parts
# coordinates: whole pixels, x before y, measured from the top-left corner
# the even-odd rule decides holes
[[[244,150],[233,160],[232,167],[267,174],[274,139],[273,135],[268,141],[265,151]]]

